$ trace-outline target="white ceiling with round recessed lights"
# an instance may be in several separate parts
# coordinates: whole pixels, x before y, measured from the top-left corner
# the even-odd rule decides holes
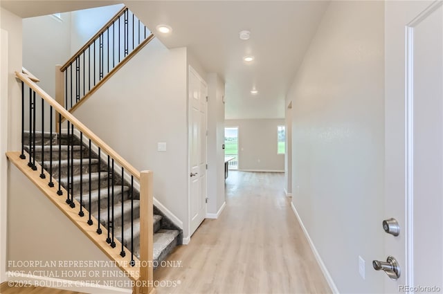
[[[1,1],[21,17],[48,15],[121,1]],[[225,117],[284,118],[284,96],[328,1],[124,1],[168,48],[188,47],[208,73],[226,82]],[[251,39],[239,39],[250,30]],[[155,32],[156,33],[156,32]],[[253,55],[246,64],[242,57]],[[258,93],[251,94],[251,89]]]

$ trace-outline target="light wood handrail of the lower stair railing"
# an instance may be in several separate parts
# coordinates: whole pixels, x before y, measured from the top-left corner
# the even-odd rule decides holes
[[[105,151],[109,156],[111,156],[111,158],[114,158],[114,160],[116,160],[118,164],[124,167],[127,170],[127,172],[132,174],[138,181],[140,181],[140,172],[138,172],[137,169],[135,169],[132,165],[130,165],[125,160],[125,158],[121,157],[116,151],[114,151],[114,149],[112,149],[105,142],[103,142],[102,139],[98,138],[96,134],[93,134],[93,132],[90,129],[88,129],[85,125],[83,125],[82,122],[80,122],[77,118],[75,118],[75,116],[73,116],[69,111],[67,111],[60,104],[58,104],[57,101],[55,101],[53,98],[51,98],[50,95],[48,95],[48,93],[46,93],[42,88],[37,86],[35,82],[30,80],[28,75],[25,75],[24,73],[19,73],[18,71],[15,72],[15,75],[19,78],[19,80],[30,86],[31,89],[33,89],[36,93],[38,93],[41,98],[46,100],[46,102],[48,102],[48,104],[50,104],[53,107],[53,109],[55,109],[55,111],[60,113],[63,118],[71,122],[71,124],[73,124],[79,131],[81,131],[84,135],[86,135],[87,138],[91,139],[93,143],[95,143],[98,147],[100,147],[100,149]]]

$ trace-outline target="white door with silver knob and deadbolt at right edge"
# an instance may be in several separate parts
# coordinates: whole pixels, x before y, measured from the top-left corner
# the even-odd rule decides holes
[[[443,6],[386,2],[386,293],[443,291]],[[383,274],[383,273],[380,273]]]

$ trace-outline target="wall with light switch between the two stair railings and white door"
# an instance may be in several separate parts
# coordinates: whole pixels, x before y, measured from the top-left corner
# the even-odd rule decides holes
[[[188,236],[186,48],[154,39],[73,114],[138,170],[154,172],[154,196]],[[99,119],[98,119],[99,118]],[[157,143],[167,151],[157,151]]]

